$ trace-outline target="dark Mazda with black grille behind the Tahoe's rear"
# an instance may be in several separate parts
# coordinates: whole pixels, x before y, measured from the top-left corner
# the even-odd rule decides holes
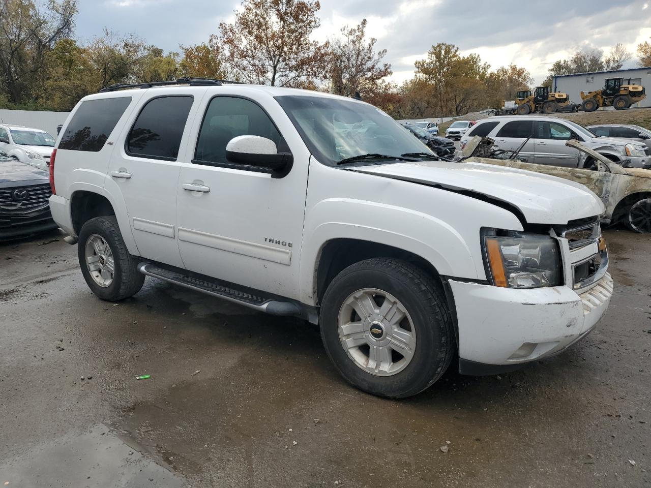
[[[0,241],[57,228],[50,195],[48,173],[0,153]]]

